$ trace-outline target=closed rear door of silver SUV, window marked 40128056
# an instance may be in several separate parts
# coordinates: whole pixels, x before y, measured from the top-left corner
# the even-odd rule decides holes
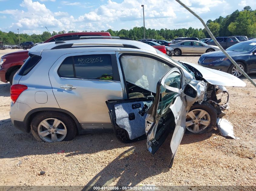
[[[123,98],[115,52],[65,54],[49,78],[59,107],[72,113],[83,129],[112,128],[105,101]]]

